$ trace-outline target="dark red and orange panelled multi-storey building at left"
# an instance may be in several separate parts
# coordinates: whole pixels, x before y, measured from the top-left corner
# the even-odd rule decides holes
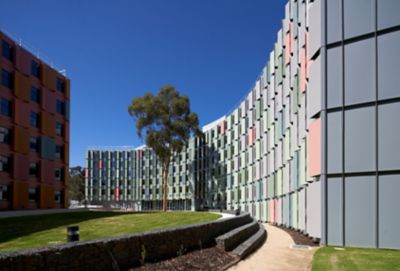
[[[63,208],[70,81],[0,32],[0,210]]]

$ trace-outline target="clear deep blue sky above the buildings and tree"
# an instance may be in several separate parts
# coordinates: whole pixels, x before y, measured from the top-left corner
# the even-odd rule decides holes
[[[71,79],[70,165],[88,146],[134,145],[127,106],[173,84],[207,124],[253,86],[286,0],[12,0],[0,25]]]

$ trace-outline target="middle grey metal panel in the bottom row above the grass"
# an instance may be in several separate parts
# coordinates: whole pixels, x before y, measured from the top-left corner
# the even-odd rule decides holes
[[[376,177],[345,178],[346,246],[373,247],[376,240]]]

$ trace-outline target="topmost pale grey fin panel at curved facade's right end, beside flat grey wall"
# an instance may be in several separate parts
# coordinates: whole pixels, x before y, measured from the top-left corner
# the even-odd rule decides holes
[[[309,19],[309,35],[312,37],[309,39],[308,44],[308,54],[309,58],[312,58],[314,54],[319,50],[322,44],[322,33],[321,33],[321,20],[322,20],[322,12],[321,12],[321,1],[315,1],[311,4],[308,10],[308,19]]]

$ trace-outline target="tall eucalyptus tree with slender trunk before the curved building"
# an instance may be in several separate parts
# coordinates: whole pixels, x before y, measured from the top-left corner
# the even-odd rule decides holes
[[[157,95],[148,92],[136,97],[128,107],[136,122],[139,138],[156,154],[162,169],[163,210],[167,210],[167,179],[174,153],[182,151],[192,136],[201,136],[199,118],[190,110],[188,96],[171,85],[166,85]]]

